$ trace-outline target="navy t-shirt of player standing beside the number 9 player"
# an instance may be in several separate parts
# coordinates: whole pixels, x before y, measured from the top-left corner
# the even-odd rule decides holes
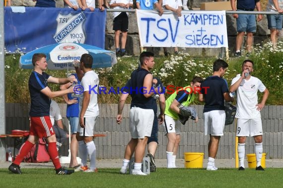
[[[201,84],[201,93],[205,97],[204,112],[225,110],[224,93],[229,92],[227,82],[218,76],[210,76]]]

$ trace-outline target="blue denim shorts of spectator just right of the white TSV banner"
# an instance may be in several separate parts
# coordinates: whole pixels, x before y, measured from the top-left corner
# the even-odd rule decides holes
[[[255,33],[256,31],[257,22],[255,14],[238,14],[237,32]]]

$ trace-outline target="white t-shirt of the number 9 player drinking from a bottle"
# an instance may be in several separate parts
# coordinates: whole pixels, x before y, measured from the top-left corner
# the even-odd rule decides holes
[[[233,78],[231,85],[240,79],[240,74]],[[266,87],[256,77],[251,76],[249,80],[243,79],[236,91],[237,111],[236,118],[254,119],[261,117],[260,111],[257,110],[258,91],[264,92]]]

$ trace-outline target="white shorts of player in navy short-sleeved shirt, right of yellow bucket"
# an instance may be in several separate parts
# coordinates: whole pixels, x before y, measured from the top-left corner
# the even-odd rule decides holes
[[[223,136],[225,117],[226,114],[224,110],[212,110],[205,112],[205,135]]]

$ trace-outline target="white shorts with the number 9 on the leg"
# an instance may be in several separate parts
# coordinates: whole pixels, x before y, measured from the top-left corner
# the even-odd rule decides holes
[[[237,137],[254,137],[262,134],[263,131],[261,118],[237,119]]]

